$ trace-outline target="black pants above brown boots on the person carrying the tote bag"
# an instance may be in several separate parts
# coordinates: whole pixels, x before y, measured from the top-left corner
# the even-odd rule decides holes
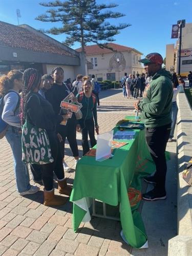
[[[50,132],[48,133],[48,137],[51,145],[51,155],[54,159],[54,162],[41,164],[40,166],[42,183],[44,184],[46,190],[51,190],[53,188],[53,171],[59,180],[63,179],[65,175],[57,135],[54,132]]]

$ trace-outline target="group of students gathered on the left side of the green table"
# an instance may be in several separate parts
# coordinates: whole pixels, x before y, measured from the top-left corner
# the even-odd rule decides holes
[[[79,160],[76,131],[82,134],[83,155],[90,150],[88,134],[91,147],[96,144],[95,131],[99,133],[99,88],[94,78],[94,75],[90,79],[79,74],[72,84],[69,83],[69,79],[68,83],[65,83],[61,67],[55,67],[51,75],[46,74],[42,77],[36,69],[29,68],[25,71],[11,70],[0,78],[0,114],[2,122],[7,124],[4,133],[11,146],[16,188],[20,196],[34,194],[39,189],[38,186],[30,184],[28,164],[24,161],[22,149],[26,147],[31,154],[30,147],[32,144],[35,147],[34,137],[37,137],[35,129],[45,130],[53,161],[37,164],[29,162],[32,178],[34,182],[44,185],[45,205],[62,205],[67,202],[66,197],[54,194],[53,175],[56,175],[59,194],[70,196],[72,188],[67,184],[64,172],[70,170],[64,160],[66,138],[73,153],[75,167]],[[81,118],[77,118],[76,113],[69,118],[67,112],[60,108],[61,101],[71,92],[82,104]],[[66,125],[63,125],[62,121],[67,121]],[[24,126],[27,122],[34,127],[30,143],[25,141],[27,132]],[[45,144],[42,140],[43,138],[37,138],[37,143]],[[45,158],[45,148],[41,148],[40,152],[41,157]]]

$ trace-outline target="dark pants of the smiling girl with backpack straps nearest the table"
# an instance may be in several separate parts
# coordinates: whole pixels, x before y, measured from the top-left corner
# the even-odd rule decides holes
[[[83,156],[88,153],[90,150],[89,142],[88,142],[88,134],[90,138],[91,147],[96,145],[96,139],[95,139],[95,124],[93,118],[88,120],[79,120],[81,129],[82,129],[82,150],[83,150]]]

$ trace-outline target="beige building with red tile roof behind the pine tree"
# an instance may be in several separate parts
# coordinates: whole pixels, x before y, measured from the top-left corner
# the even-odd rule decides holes
[[[141,63],[138,62],[143,55],[140,51],[113,42],[110,42],[108,47],[112,48],[113,51],[106,48],[102,49],[97,45],[85,47],[89,75],[95,75],[98,81],[118,81],[124,72],[127,74],[141,74],[143,72]],[[80,52],[81,48],[76,49],[76,51]]]

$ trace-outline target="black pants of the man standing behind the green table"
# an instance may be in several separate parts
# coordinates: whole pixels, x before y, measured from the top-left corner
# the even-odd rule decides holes
[[[154,175],[156,186],[158,190],[165,191],[165,178],[166,178],[166,158],[165,149],[171,130],[171,123],[155,128],[145,129],[145,139],[148,149],[156,165],[156,173]]]

